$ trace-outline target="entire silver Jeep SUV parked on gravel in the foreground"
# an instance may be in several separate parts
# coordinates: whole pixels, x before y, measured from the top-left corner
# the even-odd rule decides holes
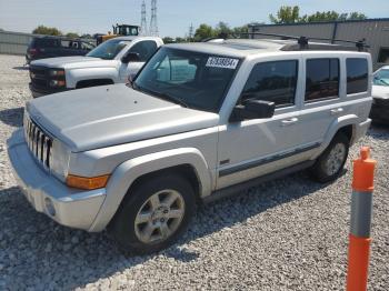
[[[306,168],[335,180],[371,102],[370,54],[349,47],[169,44],[131,86],[28,102],[8,151],[37,211],[149,253],[184,231],[198,201]]]

